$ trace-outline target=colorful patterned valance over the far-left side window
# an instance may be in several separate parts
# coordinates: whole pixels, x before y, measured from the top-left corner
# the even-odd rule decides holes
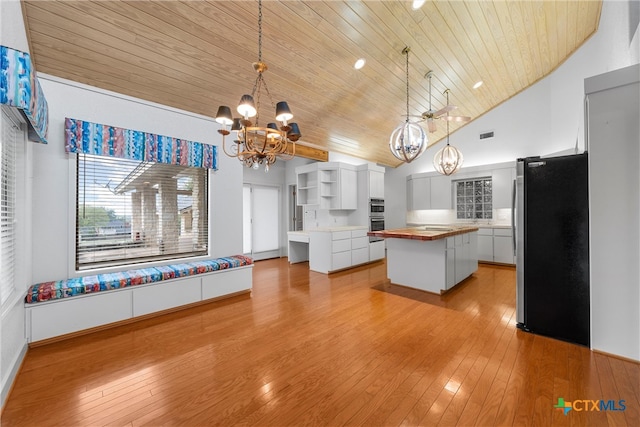
[[[0,46],[0,104],[20,108],[29,121],[29,139],[47,143],[49,106],[31,57],[6,46]]]

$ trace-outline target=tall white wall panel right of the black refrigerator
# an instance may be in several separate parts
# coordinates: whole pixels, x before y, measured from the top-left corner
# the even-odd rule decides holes
[[[591,347],[640,361],[640,66],[589,93]]]

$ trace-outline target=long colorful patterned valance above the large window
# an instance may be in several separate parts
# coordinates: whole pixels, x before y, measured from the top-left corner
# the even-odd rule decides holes
[[[218,169],[214,145],[70,118],[64,128],[67,153]]]

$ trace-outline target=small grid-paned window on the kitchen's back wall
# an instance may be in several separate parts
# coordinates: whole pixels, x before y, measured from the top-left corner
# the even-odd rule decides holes
[[[455,181],[456,217],[458,219],[491,219],[491,178],[475,178]]]

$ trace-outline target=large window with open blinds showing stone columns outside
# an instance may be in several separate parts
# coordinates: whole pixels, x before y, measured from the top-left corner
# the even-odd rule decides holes
[[[207,255],[207,169],[79,154],[77,171],[77,270]]]

